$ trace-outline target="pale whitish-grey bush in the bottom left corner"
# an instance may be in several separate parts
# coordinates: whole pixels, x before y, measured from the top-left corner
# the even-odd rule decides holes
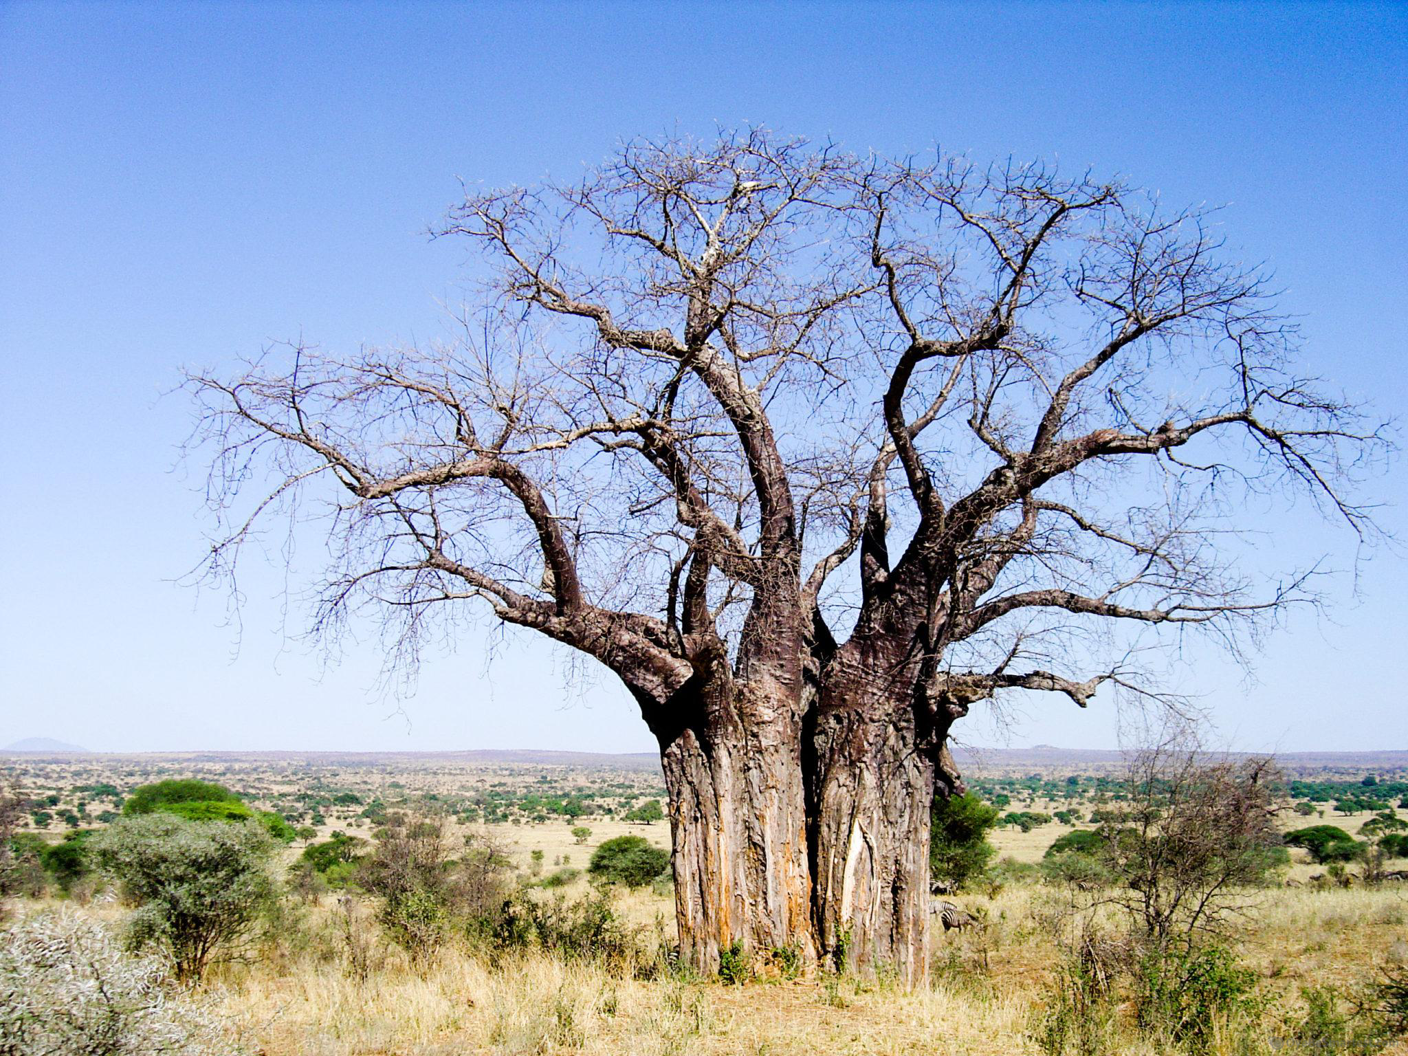
[[[0,1053],[235,1053],[218,1021],[163,976],[159,957],[122,953],[94,921],[28,917],[0,934]]]

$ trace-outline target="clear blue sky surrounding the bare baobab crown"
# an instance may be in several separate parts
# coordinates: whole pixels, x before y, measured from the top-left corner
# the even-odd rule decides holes
[[[396,701],[370,642],[328,666],[282,632],[272,570],[246,573],[242,634],[173,582],[206,525],[176,466],[189,404],[162,396],[179,367],[441,335],[463,246],[422,232],[456,177],[745,122],[1126,173],[1228,203],[1309,367],[1394,414],[1405,79],[1402,4],[0,3],[0,745],[653,748],[611,676],[566,689],[531,638],[465,636]],[[1402,534],[1401,463],[1377,491]],[[1345,531],[1276,527],[1354,563]],[[1255,681],[1198,650],[1183,687],[1240,748],[1408,748],[1405,565],[1342,577],[1335,622],[1293,620]],[[1043,697],[1010,742],[1117,725]]]

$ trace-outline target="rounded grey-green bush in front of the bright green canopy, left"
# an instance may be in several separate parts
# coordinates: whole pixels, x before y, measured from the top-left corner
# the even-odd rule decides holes
[[[273,842],[252,821],[148,814],[114,822],[90,845],[99,866],[139,904],[132,945],[166,949],[180,980],[199,980],[211,956],[248,934],[273,894]]]

